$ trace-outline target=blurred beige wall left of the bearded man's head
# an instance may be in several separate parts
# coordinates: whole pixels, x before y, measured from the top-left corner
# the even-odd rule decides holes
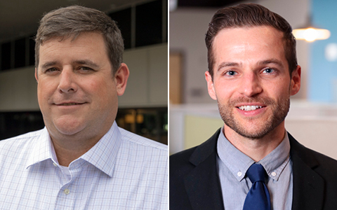
[[[170,13],[170,51],[183,54],[183,102],[212,102],[206,89],[205,33],[215,9],[178,9]],[[193,92],[199,92],[194,96]]]

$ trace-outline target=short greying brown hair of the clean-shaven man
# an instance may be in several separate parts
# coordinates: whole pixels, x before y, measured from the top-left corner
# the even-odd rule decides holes
[[[98,32],[103,35],[107,55],[116,72],[123,60],[124,43],[121,31],[114,20],[105,13],[83,6],[68,6],[52,10],[40,21],[35,38],[35,66],[39,66],[40,45],[51,38],[77,38],[83,32]]]

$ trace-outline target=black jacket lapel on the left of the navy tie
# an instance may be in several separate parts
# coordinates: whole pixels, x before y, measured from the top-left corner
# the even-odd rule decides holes
[[[184,183],[192,209],[224,209],[216,166],[219,134],[220,130],[191,155],[190,162],[195,168],[185,176]]]

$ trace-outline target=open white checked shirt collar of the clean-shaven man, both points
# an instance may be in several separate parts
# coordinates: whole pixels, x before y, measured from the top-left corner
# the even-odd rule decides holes
[[[91,163],[91,165],[112,177],[121,141],[121,132],[119,132],[117,123],[114,122],[110,130],[102,137],[102,139],[100,139],[100,141],[98,141],[98,143],[88,152],[70,163],[70,167],[82,165],[81,163],[77,164],[78,160],[81,159]],[[41,130],[41,134],[38,137],[36,144],[32,148],[32,153],[29,155],[26,168],[48,159],[51,159],[55,164],[58,164],[53,144],[51,144],[51,137],[48,134],[46,127],[44,127],[44,129]]]

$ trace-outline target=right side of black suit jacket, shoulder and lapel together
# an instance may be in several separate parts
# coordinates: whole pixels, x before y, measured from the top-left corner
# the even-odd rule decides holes
[[[337,160],[306,148],[291,135],[289,140],[293,163],[293,206],[297,207],[293,209],[310,209],[323,200],[324,209],[337,209]],[[322,197],[319,199],[319,196]]]

